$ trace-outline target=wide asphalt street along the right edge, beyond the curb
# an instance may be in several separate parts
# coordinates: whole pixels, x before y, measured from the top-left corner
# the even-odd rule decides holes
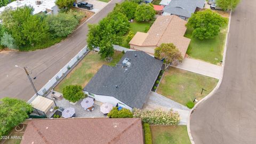
[[[217,92],[191,114],[196,144],[256,143],[256,1],[233,12],[226,64]]]

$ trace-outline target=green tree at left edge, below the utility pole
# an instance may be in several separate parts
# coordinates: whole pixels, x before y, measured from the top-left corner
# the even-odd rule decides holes
[[[0,99],[0,136],[7,135],[14,126],[28,118],[33,111],[31,105],[13,98]]]

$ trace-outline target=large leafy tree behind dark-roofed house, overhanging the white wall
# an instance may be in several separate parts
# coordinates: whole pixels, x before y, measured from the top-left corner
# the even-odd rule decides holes
[[[87,43],[90,50],[100,48],[102,59],[111,57],[114,54],[112,44],[121,44],[122,36],[129,31],[130,23],[127,17],[120,12],[112,12],[102,19],[98,25],[89,26]]]

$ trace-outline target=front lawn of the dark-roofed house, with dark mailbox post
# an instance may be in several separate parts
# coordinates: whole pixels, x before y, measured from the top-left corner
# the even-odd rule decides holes
[[[214,89],[218,81],[212,77],[170,67],[165,71],[157,93],[186,106],[188,101],[204,98]],[[202,88],[206,90],[203,94],[201,94]]]

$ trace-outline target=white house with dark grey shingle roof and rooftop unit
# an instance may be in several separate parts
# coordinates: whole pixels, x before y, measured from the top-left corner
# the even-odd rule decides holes
[[[113,106],[142,108],[162,65],[145,52],[127,51],[115,67],[103,65],[83,91]]]

